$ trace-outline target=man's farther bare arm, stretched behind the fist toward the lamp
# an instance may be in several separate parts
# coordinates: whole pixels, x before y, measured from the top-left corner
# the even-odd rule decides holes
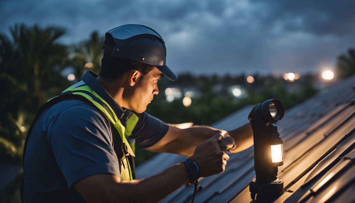
[[[169,130],[166,135],[153,146],[145,149],[154,152],[167,152],[190,156],[197,145],[211,138],[216,133],[230,136],[235,140],[236,148],[230,150],[232,153],[245,150],[253,145],[253,131],[250,123],[246,123],[228,132],[209,126],[197,125],[186,129],[180,129],[175,126],[176,125],[169,124]]]

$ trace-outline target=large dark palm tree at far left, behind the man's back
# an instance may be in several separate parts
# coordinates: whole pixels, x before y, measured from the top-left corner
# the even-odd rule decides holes
[[[64,28],[15,24],[10,33],[11,38],[0,33],[0,85],[5,95],[0,100],[0,153],[16,147],[21,156],[39,106],[68,86],[60,75],[68,57],[67,48],[58,42]]]

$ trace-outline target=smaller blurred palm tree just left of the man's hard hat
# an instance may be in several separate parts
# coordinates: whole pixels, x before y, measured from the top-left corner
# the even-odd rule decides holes
[[[98,32],[94,31],[90,39],[72,46],[74,56],[71,65],[77,77],[81,77],[87,70],[92,70],[96,74],[100,72],[104,40],[105,37],[99,37]]]

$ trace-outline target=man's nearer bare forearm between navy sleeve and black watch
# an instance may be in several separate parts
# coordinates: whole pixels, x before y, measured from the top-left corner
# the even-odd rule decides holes
[[[189,182],[185,164],[175,164],[157,175],[120,181],[112,174],[98,174],[74,184],[86,202],[158,202]]]

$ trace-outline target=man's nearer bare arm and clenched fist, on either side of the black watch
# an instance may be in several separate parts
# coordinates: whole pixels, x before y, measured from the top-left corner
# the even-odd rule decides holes
[[[198,145],[190,159],[200,167],[201,177],[223,172],[229,159],[224,151],[233,145],[232,139],[221,134]],[[116,175],[98,174],[73,186],[87,202],[158,202],[188,182],[185,164],[179,163],[141,180],[121,181]]]

